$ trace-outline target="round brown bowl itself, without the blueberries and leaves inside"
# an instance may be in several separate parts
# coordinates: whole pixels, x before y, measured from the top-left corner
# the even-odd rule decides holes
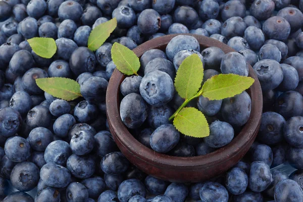
[[[141,57],[149,49],[158,48],[165,51],[168,42],[177,35],[179,34],[149,40],[133,49],[133,52]],[[198,40],[201,50],[217,46],[225,53],[234,52],[234,49],[218,40],[193,34],[186,35],[194,36]],[[259,80],[250,65],[249,76],[255,79],[255,83],[247,90],[251,97],[249,120],[228,145],[211,154],[196,157],[172,157],[157,153],[137,141],[120,118],[119,109],[122,96],[120,84],[125,75],[117,69],[110,79],[106,95],[107,116],[111,133],[125,157],[149,175],[171,182],[183,183],[213,178],[234,166],[246,154],[257,136],[261,122],[263,99]]]

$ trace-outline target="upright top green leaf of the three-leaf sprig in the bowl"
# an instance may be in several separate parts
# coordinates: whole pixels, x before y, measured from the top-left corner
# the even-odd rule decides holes
[[[194,96],[203,80],[203,64],[197,54],[187,57],[180,65],[175,78],[178,94],[188,99]]]

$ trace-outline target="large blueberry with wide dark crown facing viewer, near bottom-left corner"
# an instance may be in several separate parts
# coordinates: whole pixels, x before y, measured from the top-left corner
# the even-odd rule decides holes
[[[12,170],[11,183],[20,191],[30,191],[37,186],[39,169],[31,162],[18,163]]]

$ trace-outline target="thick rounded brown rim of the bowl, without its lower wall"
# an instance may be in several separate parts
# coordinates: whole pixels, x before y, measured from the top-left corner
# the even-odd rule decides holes
[[[143,53],[149,49],[158,49],[160,46],[166,46],[167,41],[170,41],[173,37],[178,35],[189,35],[195,37],[200,47],[217,46],[222,49],[226,54],[229,52],[236,52],[228,45],[206,36],[196,34],[170,34],[161,36],[155,39],[151,39],[142,43],[133,49],[133,52],[137,57],[141,57]],[[147,48],[146,48],[147,47]],[[200,50],[201,51],[201,50]],[[193,170],[206,169],[213,167],[214,165],[224,164],[233,156],[236,156],[241,150],[247,148],[252,139],[256,138],[257,132],[261,123],[262,108],[263,108],[263,96],[260,82],[255,74],[254,70],[248,64],[249,76],[255,79],[254,84],[250,86],[250,98],[251,98],[251,113],[248,121],[243,126],[241,131],[233,140],[215,150],[214,152],[194,157],[174,157],[166,154],[160,154],[156,151],[141,144],[127,129],[120,118],[120,84],[125,79],[125,75],[114,70],[112,77],[110,78],[107,95],[106,95],[106,111],[109,122],[109,127],[113,131],[113,137],[115,141],[119,141],[127,150],[128,153],[136,156],[136,158],[151,164],[158,168],[165,168],[171,170]],[[256,132],[257,131],[257,132]],[[250,146],[250,145],[249,145]]]

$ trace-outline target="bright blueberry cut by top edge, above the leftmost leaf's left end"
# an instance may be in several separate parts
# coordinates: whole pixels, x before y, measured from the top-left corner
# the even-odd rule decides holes
[[[45,13],[46,7],[44,0],[31,0],[26,7],[26,12],[30,17],[38,19]]]

